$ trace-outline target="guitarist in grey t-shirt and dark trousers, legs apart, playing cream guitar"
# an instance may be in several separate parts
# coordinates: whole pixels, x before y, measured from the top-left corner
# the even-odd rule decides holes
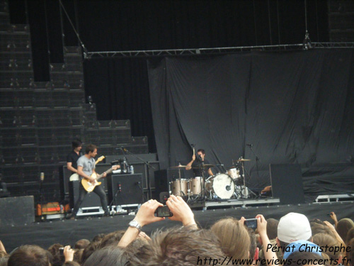
[[[89,144],[86,147],[85,150],[85,155],[79,157],[79,160],[77,160],[77,173],[79,174],[80,178],[85,178],[89,180],[91,183],[97,182],[95,178],[91,177],[91,174],[95,172],[95,159],[97,155],[97,146],[93,144]],[[107,174],[103,173],[103,177],[105,177]],[[103,190],[102,186],[96,186],[95,189],[93,189],[93,192],[95,192],[101,199],[101,205],[103,208],[103,211],[105,211],[105,214],[103,216],[109,216],[110,212],[108,210],[108,203],[107,203],[107,198],[105,196],[105,192]],[[70,219],[74,219],[76,217],[77,211],[79,211],[80,205],[85,199],[87,192],[82,186],[81,182],[79,185],[79,199],[77,199],[74,209],[72,211],[72,215],[68,216]]]

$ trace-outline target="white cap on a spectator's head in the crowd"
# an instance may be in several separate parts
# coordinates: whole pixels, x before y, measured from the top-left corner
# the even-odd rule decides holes
[[[290,212],[282,216],[278,224],[278,245],[285,247],[297,240],[311,240],[312,231],[304,214]]]

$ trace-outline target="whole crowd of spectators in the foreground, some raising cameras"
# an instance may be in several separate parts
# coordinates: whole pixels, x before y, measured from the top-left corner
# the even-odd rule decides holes
[[[166,201],[181,226],[147,235],[158,223],[156,200],[142,204],[125,231],[78,240],[73,247],[55,243],[47,250],[22,245],[6,253],[0,241],[0,266],[135,266],[135,265],[346,265],[354,266],[354,223],[349,218],[328,221],[290,212],[280,220],[256,216],[256,228],[244,217],[227,217],[210,228],[198,228],[193,211],[180,196]]]

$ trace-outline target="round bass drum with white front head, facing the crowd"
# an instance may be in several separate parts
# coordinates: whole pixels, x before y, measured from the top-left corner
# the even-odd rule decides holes
[[[215,194],[220,199],[230,199],[235,192],[235,186],[229,174],[215,174],[205,182],[205,189],[210,195]]]

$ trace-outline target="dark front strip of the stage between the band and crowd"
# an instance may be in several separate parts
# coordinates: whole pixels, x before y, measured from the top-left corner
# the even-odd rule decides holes
[[[331,202],[323,204],[298,204],[298,205],[273,205],[273,206],[246,206],[230,207],[220,209],[193,210],[195,221],[201,228],[210,228],[220,218],[232,216],[240,218],[254,218],[257,214],[263,214],[265,218],[276,218],[284,216],[293,211],[306,215],[309,219],[319,218],[323,221],[331,221],[327,214],[334,211],[338,217],[352,218],[354,220],[354,201]],[[26,226],[4,226],[0,228],[0,240],[4,243],[8,253],[19,245],[35,244],[42,248],[48,248],[53,243],[63,245],[74,245],[74,243],[86,238],[91,240],[98,233],[110,233],[116,230],[125,230],[127,224],[134,216],[118,215],[113,217],[83,217],[75,221],[53,220],[42,221]],[[143,231],[152,233],[158,228],[169,228],[179,226],[176,221],[161,221],[144,226]]]

